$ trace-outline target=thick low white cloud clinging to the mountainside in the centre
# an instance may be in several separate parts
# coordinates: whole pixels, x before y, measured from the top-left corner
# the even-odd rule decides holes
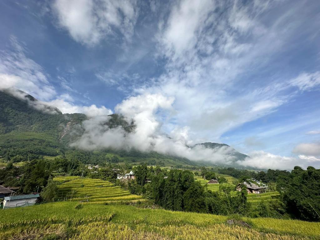
[[[140,151],[156,151],[162,154],[186,157],[193,161],[210,161],[228,164],[235,160],[231,154],[233,148],[188,147],[188,128],[176,129],[169,138],[161,129],[161,122],[156,117],[158,111],[172,111],[173,99],[160,94],[144,94],[124,100],[116,106],[116,111],[127,120],[133,120],[134,131],[125,132],[119,126],[110,129],[106,125],[109,116],[92,117],[83,122],[84,134],[72,144],[88,150],[96,148],[132,148]]]

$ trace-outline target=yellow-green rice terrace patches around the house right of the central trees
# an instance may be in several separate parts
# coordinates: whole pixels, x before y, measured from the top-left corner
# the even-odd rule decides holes
[[[211,190],[211,191],[219,191],[219,188],[221,185],[232,185],[232,182],[237,180],[236,178],[232,177],[232,176],[228,176],[228,175],[224,175],[224,174],[219,174],[219,176],[223,176],[228,180],[228,183],[224,183],[224,184],[208,184],[207,185],[207,189]],[[204,186],[209,180],[204,180],[202,179],[201,176],[196,176],[195,180],[200,181],[201,184]],[[236,191],[231,192],[231,195],[236,195]],[[248,194],[248,201],[252,204],[252,206],[256,206],[260,203],[261,200],[266,200],[269,201],[272,198],[278,196],[279,193],[278,192],[265,192],[265,193],[260,193],[260,194],[254,194],[254,193],[250,193]]]

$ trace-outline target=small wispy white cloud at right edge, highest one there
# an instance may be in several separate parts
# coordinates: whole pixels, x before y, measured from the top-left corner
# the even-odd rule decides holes
[[[320,72],[301,73],[290,81],[292,86],[298,87],[301,91],[309,91],[320,86]]]

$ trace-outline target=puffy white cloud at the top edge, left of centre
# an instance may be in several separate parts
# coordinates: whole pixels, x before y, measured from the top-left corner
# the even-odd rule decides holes
[[[52,5],[59,25],[82,44],[94,45],[119,30],[126,40],[138,17],[135,0],[56,0]]]

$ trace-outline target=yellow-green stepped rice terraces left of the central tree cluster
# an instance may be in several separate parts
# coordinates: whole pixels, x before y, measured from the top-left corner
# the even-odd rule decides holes
[[[111,201],[136,201],[142,198],[131,194],[109,181],[74,176],[56,177],[59,201],[105,203]]]

